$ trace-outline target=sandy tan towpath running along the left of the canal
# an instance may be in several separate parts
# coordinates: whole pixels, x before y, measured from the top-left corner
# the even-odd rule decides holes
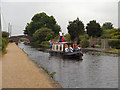
[[[61,88],[15,43],[2,56],[2,88]]]

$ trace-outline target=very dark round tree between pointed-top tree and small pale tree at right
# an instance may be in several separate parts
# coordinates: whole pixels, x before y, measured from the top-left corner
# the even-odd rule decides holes
[[[92,37],[100,37],[102,35],[102,29],[99,23],[96,23],[95,20],[90,21],[87,26],[87,34]]]

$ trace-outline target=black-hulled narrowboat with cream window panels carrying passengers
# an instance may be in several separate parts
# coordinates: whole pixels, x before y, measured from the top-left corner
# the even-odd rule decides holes
[[[71,45],[73,52],[65,52],[65,45]],[[82,59],[83,53],[80,50],[75,50],[74,43],[68,42],[54,42],[52,44],[51,50],[49,50],[51,55],[59,55],[66,58],[79,58]]]

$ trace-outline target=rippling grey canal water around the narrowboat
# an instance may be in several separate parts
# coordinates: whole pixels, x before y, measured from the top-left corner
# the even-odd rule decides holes
[[[50,56],[40,48],[18,44],[40,67],[50,73],[63,88],[118,88],[118,57],[84,54],[83,60]]]

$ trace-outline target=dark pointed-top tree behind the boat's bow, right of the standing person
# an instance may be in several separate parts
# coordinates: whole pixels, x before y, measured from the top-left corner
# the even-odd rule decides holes
[[[74,21],[70,21],[67,29],[71,40],[78,39],[78,36],[84,34],[85,32],[84,24],[79,20],[79,18]]]

